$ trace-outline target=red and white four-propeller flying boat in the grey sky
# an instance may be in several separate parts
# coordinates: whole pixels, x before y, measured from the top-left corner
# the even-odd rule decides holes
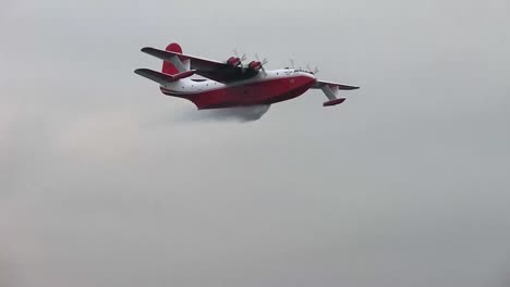
[[[187,55],[175,42],[165,51],[155,48],[142,51],[163,60],[162,70],[137,68],[134,72],[158,83],[162,93],[190,100],[198,110],[270,105],[299,97],[311,88],[321,89],[328,98],[324,107],[330,107],[345,100],[337,97],[339,90],[359,89],[318,80],[316,72],[301,68],[266,70],[266,60],[243,65],[244,57],[230,57],[220,62]]]

